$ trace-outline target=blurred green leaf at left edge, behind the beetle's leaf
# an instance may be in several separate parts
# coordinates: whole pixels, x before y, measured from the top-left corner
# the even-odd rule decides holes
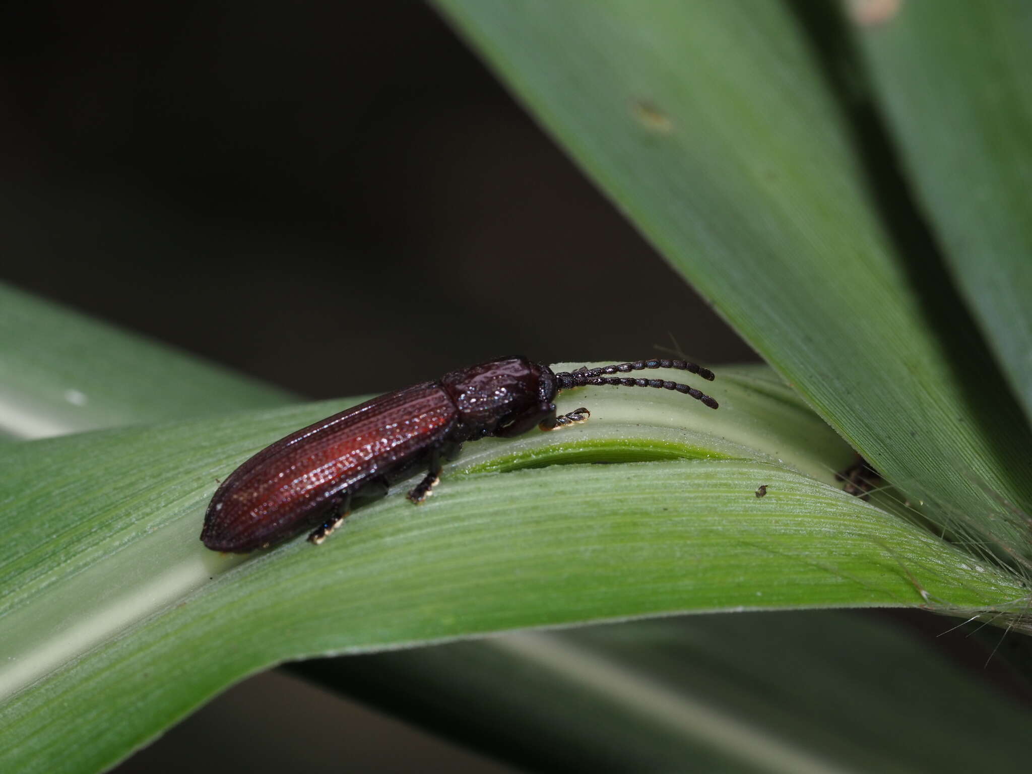
[[[34,439],[291,399],[157,342],[0,286],[0,432]]]

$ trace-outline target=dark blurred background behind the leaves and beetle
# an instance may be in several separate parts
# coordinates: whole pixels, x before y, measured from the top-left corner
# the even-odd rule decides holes
[[[4,11],[6,282],[310,397],[671,336],[702,362],[755,359],[422,3]],[[120,771],[201,764],[505,770],[284,673]]]

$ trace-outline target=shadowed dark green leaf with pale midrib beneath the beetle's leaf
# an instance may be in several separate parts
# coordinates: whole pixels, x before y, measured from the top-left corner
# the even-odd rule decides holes
[[[686,763],[706,771],[961,771],[1020,760],[1015,740],[1028,723],[1026,708],[959,680],[941,654],[856,613],[686,616],[422,652],[427,668],[418,674],[390,652],[290,669],[374,703],[396,696],[429,728],[475,744],[490,739],[530,771],[584,762],[603,771]],[[522,657],[508,659],[512,652]],[[456,679],[449,666],[458,660],[465,670]],[[561,704],[513,690],[545,692],[556,680],[569,691]],[[486,716],[478,713],[485,697]],[[501,727],[495,702],[509,710]]]

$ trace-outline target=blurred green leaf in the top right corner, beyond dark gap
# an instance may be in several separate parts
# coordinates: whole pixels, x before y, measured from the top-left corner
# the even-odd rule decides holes
[[[1032,417],[1032,8],[899,4],[853,29],[923,214]]]

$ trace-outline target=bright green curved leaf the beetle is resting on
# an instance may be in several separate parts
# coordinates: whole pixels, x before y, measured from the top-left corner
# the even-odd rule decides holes
[[[688,457],[712,444],[714,458],[464,475],[498,465],[463,458],[418,511],[389,496],[319,549],[296,540],[241,561],[197,541],[216,477],[331,407],[0,449],[4,768],[108,765],[285,658],[687,610],[986,610],[1021,596],[1013,579],[834,487],[725,458],[754,417],[735,410],[744,390],[725,400],[722,438],[650,424],[650,412],[680,424],[720,416],[673,393],[589,388],[568,400],[595,412],[568,432],[593,439],[600,460],[628,445],[648,456],[655,440]],[[619,438],[607,439],[613,426]],[[518,469],[561,436],[526,437],[515,456],[524,439],[493,448]],[[102,721],[112,714],[119,723]]]

